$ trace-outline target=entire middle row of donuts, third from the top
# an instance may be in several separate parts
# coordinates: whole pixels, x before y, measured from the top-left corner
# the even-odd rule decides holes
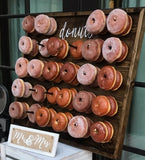
[[[117,90],[122,82],[123,76],[121,72],[113,66],[104,66],[101,69],[90,63],[82,66],[73,62],[58,63],[55,61],[41,61],[32,59],[28,61],[24,57],[17,59],[15,64],[15,72],[18,77],[24,78],[30,76],[41,80],[64,82],[77,86],[90,85],[92,87],[99,86],[104,90]]]

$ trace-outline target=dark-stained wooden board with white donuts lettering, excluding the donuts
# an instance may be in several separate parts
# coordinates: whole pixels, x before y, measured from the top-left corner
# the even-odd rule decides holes
[[[104,10],[106,15],[108,15],[110,11],[111,11],[110,9]],[[86,90],[86,91],[92,91],[96,95],[114,96],[119,106],[118,113],[114,117],[107,117],[107,116],[98,117],[98,116],[95,116],[93,113],[86,115],[86,114],[78,113],[74,110],[70,111],[73,115],[82,114],[84,116],[88,116],[94,122],[98,120],[109,121],[114,127],[114,136],[109,143],[104,143],[104,144],[96,143],[90,137],[86,139],[76,139],[76,138],[72,138],[71,136],[69,136],[68,133],[60,133],[61,142],[72,145],[72,146],[76,146],[76,147],[79,147],[85,150],[89,150],[93,153],[100,154],[100,155],[103,155],[103,156],[106,156],[112,159],[118,159],[121,156],[124,135],[125,135],[125,130],[127,126],[130,106],[131,106],[134,81],[135,81],[136,72],[137,72],[137,65],[139,62],[143,35],[144,35],[144,30],[145,30],[145,9],[130,8],[130,9],[125,9],[125,11],[133,19],[133,26],[132,26],[131,32],[124,37],[119,37],[122,41],[124,41],[128,45],[129,53],[128,53],[127,58],[121,63],[113,63],[113,64],[109,64],[105,61],[101,63],[91,62],[93,65],[98,66],[100,68],[105,65],[112,65],[123,74],[123,84],[117,91],[104,91],[100,88],[91,88],[89,86],[83,86],[83,85],[78,85],[74,87],[64,82],[57,84],[54,82],[39,81],[31,77],[24,78],[24,81],[31,82],[33,86],[38,83],[38,84],[42,84],[43,86],[45,86],[46,89],[49,89],[52,86],[58,86],[60,88],[65,88],[65,87],[73,88],[74,87],[77,89],[77,91]],[[88,35],[85,32],[84,26],[86,23],[86,19],[90,13],[91,11],[89,12],[69,12],[69,13],[68,12],[67,13],[46,13],[46,14],[50,17],[54,17],[57,21],[58,29],[54,36],[59,37],[59,38],[63,37],[68,41],[68,43],[71,44],[73,41],[77,39],[81,39],[83,41],[88,39]],[[34,14],[34,16],[36,15]],[[47,38],[47,37],[49,38],[49,36],[44,36],[38,33],[30,34],[29,36],[38,41],[44,38]],[[113,35],[107,33],[105,35],[93,36],[93,38],[102,38],[105,40],[106,38],[111,37],[111,36]],[[31,59],[30,57],[27,57],[27,56],[26,58],[28,58],[29,60]],[[72,61],[80,66],[84,63],[88,63],[88,61],[84,59],[75,60],[74,58],[72,58],[70,53],[68,53],[68,56],[64,60],[60,60],[55,57],[43,58],[42,56],[40,56],[40,54],[38,54],[38,56],[36,56],[35,58],[45,60],[45,61],[53,60],[53,61],[63,62],[63,63]],[[25,101],[30,105],[33,103],[36,103],[33,101],[31,97],[28,99],[19,98],[17,100]],[[41,106],[46,106],[48,108],[54,107],[57,112],[68,111],[67,109],[62,109],[57,105],[49,104],[47,100],[44,103],[42,103]],[[12,123],[22,125],[22,126],[37,128],[40,130],[54,132],[52,128],[49,128],[49,127],[40,128],[36,124],[30,123],[27,118],[24,120],[12,120]]]

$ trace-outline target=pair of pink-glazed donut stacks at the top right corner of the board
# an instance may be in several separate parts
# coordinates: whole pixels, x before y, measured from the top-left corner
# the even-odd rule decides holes
[[[86,29],[92,34],[109,31],[113,35],[125,36],[131,28],[132,17],[120,8],[113,9],[107,16],[100,9],[94,10],[86,21]]]

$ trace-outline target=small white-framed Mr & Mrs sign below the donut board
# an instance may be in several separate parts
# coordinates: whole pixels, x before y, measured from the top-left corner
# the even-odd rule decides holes
[[[11,124],[8,143],[11,146],[54,157],[59,134]]]

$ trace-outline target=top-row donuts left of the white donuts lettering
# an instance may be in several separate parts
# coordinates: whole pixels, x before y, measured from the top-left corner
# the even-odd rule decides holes
[[[39,14],[36,17],[28,15],[23,18],[22,28],[27,33],[37,31],[44,35],[53,35],[57,30],[57,22],[55,18],[44,14]]]

